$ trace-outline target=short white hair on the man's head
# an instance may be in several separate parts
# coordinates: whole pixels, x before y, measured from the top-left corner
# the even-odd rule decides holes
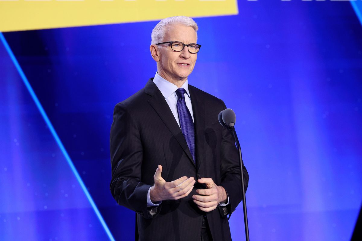
[[[167,27],[171,25],[184,25],[186,27],[192,27],[195,30],[197,40],[197,30],[199,29],[197,23],[192,18],[186,16],[175,16],[164,18],[159,23],[157,23],[155,28],[152,30],[151,44],[163,42]]]

